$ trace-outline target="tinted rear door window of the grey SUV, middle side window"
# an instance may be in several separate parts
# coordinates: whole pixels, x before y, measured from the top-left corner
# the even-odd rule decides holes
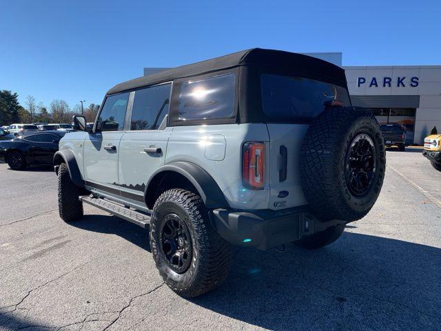
[[[130,130],[156,130],[170,104],[172,84],[152,86],[135,92]]]

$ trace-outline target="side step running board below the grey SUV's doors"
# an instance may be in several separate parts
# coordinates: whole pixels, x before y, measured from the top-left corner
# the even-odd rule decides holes
[[[114,203],[112,201],[90,195],[81,196],[79,197],[79,200],[105,210],[106,212],[110,212],[110,214],[121,217],[121,219],[125,219],[126,221],[139,225],[141,228],[147,228],[147,225],[150,224],[149,215],[143,214],[142,212],[136,212],[130,208],[125,208],[119,203]]]

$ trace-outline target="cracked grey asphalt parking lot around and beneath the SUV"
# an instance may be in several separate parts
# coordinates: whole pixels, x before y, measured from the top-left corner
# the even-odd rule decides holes
[[[441,330],[441,172],[387,152],[373,210],[336,243],[236,250],[192,300],[163,284],[147,231],[85,205],[59,219],[47,168],[0,164],[1,330]]]

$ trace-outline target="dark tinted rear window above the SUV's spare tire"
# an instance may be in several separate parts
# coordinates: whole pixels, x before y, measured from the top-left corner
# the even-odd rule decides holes
[[[260,88],[263,112],[275,121],[310,121],[322,112],[326,101],[351,106],[345,88],[313,79],[262,74]]]

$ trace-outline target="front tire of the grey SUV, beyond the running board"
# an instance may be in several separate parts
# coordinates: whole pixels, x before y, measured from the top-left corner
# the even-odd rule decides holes
[[[83,203],[79,196],[83,190],[70,179],[68,166],[61,163],[58,170],[58,209],[61,219],[72,222],[83,217]]]

